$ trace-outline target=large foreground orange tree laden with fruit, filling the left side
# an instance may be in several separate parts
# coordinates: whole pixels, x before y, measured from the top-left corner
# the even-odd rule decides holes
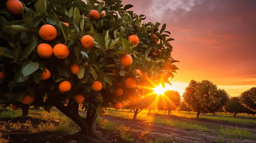
[[[20,14],[12,14],[6,2],[0,2],[0,104],[4,107],[15,104],[27,111],[29,106],[43,107],[49,112],[55,106],[90,135],[102,106],[143,96],[145,92],[135,92],[154,84],[170,84],[168,78],[178,69],[166,24],[159,29],[158,22],[144,22],[144,15],[128,11],[130,4],[20,0]],[[151,37],[153,33],[157,37]],[[43,50],[42,43],[47,45]],[[124,93],[116,96],[117,88]],[[32,102],[21,102],[24,97]],[[81,100],[85,119],[78,114]]]

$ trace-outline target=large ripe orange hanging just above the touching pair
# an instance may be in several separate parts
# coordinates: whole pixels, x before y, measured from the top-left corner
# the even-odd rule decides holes
[[[57,30],[54,26],[45,24],[40,27],[38,34],[43,40],[52,41],[57,37]]]

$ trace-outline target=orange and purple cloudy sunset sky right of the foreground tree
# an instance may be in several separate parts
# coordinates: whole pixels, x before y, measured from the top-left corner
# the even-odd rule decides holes
[[[229,95],[256,86],[256,0],[123,0],[146,22],[166,23],[180,70],[171,90],[209,80]]]

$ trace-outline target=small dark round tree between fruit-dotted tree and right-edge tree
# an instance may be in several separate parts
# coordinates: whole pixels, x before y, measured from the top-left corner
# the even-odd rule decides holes
[[[240,103],[239,97],[231,97],[227,101],[227,103],[224,106],[224,109],[226,112],[230,112],[231,114],[234,114],[234,117],[236,117],[236,114],[245,112],[245,107]]]

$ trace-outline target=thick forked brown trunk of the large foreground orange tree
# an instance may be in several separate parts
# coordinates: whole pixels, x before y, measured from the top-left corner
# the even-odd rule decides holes
[[[86,118],[81,117],[78,114],[79,104],[76,103],[72,98],[69,99],[67,106],[60,101],[53,100],[53,105],[63,112],[67,117],[72,119],[79,127],[81,132],[87,136],[93,136],[96,132],[96,119],[97,110],[88,110]],[[99,106],[99,103],[97,103]],[[96,105],[96,106],[97,106]]]

